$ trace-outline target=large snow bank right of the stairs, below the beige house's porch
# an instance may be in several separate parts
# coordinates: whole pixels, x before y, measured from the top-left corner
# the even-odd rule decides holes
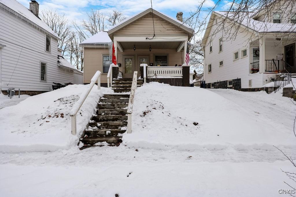
[[[132,133],[123,134],[123,143],[134,148],[274,149],[272,145],[295,144],[291,127],[275,117],[261,117],[203,88],[144,84],[135,92],[132,120]]]

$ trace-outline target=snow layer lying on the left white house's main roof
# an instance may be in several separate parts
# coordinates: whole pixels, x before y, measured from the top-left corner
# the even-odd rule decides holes
[[[54,33],[51,28],[48,27],[48,25],[46,25],[41,19],[36,17],[35,14],[33,14],[28,8],[26,8],[25,6],[20,4],[18,1],[16,1],[16,0],[0,0],[0,8],[7,9],[7,7],[9,9],[11,9],[12,11],[16,12],[14,14],[17,14],[17,17],[20,17],[20,18],[23,17],[22,19],[28,20],[28,21],[34,23],[35,25],[44,29],[46,32],[59,38],[59,36],[56,33]]]

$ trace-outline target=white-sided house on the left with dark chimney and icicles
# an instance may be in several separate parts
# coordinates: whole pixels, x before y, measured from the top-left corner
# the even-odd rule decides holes
[[[38,12],[36,1],[27,9],[15,0],[0,0],[0,93],[20,88],[21,94],[35,95],[51,91],[53,82],[79,83],[83,73],[59,57],[60,38]]]

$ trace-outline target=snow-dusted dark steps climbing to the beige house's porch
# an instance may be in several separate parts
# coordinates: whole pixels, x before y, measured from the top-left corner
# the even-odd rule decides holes
[[[130,97],[132,79],[113,79],[114,94],[105,94],[97,105],[89,126],[82,134],[81,149],[91,146],[101,146],[100,142],[107,142],[111,146],[118,146],[122,140],[122,133],[127,129],[127,107]],[[137,80],[137,86],[143,84],[143,79]]]

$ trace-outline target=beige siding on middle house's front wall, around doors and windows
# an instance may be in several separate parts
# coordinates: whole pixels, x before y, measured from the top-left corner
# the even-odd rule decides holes
[[[84,83],[90,83],[91,78],[94,76],[97,70],[102,71],[102,56],[108,55],[108,49],[103,48],[84,48]],[[149,56],[149,63],[154,64],[154,55],[168,55],[168,66],[175,66],[175,64],[182,64],[184,53],[176,52],[176,50],[152,50],[147,52],[147,50],[125,50],[124,52],[118,51],[117,62],[122,64],[123,56],[133,56],[134,57],[134,71],[139,72],[139,56]],[[184,60],[183,60],[184,61]],[[122,66],[119,68],[122,71]],[[102,74],[101,83],[107,83],[107,74]]]

